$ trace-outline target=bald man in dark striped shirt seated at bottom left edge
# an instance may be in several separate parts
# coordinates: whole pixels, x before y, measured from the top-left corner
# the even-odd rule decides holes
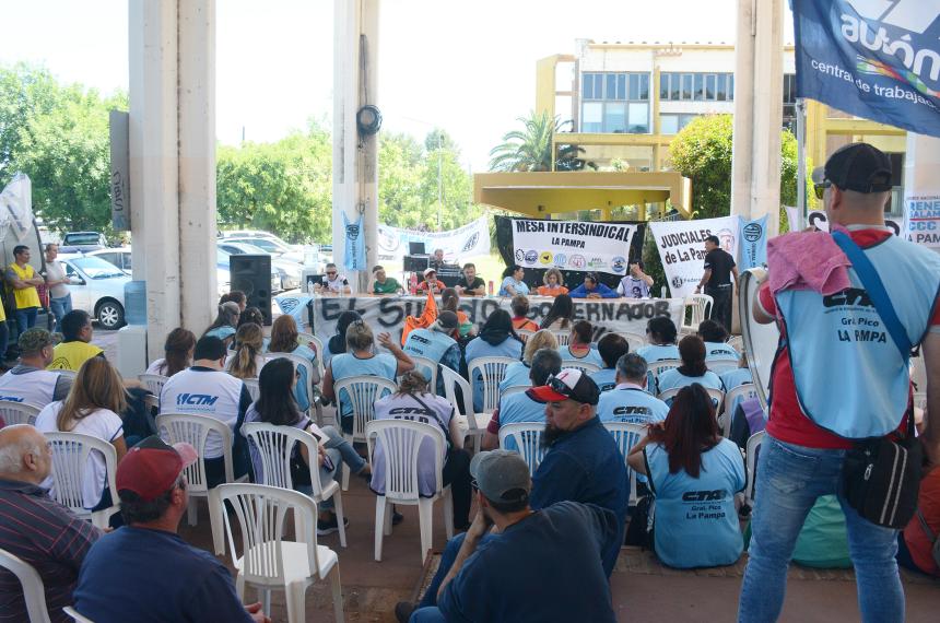
[[[79,567],[101,532],[49,498],[39,483],[49,475],[52,454],[46,437],[27,424],[0,430],[0,549],[33,566],[46,588],[51,621],[71,621],[62,607],[72,603]],[[27,621],[23,587],[0,569],[0,612]]]

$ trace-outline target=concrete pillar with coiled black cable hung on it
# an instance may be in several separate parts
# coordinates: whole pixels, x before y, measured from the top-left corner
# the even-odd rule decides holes
[[[360,137],[356,113],[378,105],[379,0],[334,0],[333,46],[333,261],[343,271],[343,213],[353,222],[363,216],[366,263],[377,262],[378,136]],[[369,273],[346,274],[363,292]]]

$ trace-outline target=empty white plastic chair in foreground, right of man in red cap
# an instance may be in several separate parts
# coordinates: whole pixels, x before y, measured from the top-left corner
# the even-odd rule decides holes
[[[225,503],[238,519],[242,550],[235,549],[235,529]],[[295,541],[284,540],[287,513],[294,517]],[[306,621],[307,587],[330,579],[333,610],[343,621],[343,595],[337,553],[317,544],[317,505],[308,496],[263,484],[222,484],[218,487],[215,513],[224,517],[228,548],[238,575],[235,590],[244,601],[245,585],[263,593],[265,612],[270,612],[271,591],[283,590],[287,621]]]

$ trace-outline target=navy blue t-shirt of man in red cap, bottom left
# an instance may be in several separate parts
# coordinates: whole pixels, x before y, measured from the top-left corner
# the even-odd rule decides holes
[[[163,530],[125,526],[98,539],[73,598],[95,623],[251,622],[225,565]]]

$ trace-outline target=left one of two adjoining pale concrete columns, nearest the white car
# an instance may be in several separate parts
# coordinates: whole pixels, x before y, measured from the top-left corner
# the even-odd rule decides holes
[[[180,322],[176,0],[130,0],[128,22],[133,278],[146,281],[152,361]]]

